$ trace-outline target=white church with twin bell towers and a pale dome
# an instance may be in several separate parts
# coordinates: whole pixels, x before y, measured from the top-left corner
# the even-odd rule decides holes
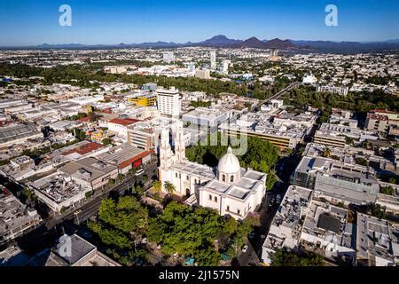
[[[172,135],[174,151],[170,145],[168,129],[161,132],[160,181],[176,186],[176,195],[190,196],[192,205],[217,209],[221,215],[244,219],[262,203],[266,193],[266,174],[244,169],[231,147],[220,159],[215,169],[190,162],[185,157],[183,123]],[[163,186],[162,186],[163,188]],[[164,189],[163,189],[164,190]]]

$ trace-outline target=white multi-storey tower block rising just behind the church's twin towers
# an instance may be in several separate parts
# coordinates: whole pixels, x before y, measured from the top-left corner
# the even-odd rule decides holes
[[[182,101],[179,91],[175,87],[157,90],[157,106],[160,114],[178,116],[180,114]]]

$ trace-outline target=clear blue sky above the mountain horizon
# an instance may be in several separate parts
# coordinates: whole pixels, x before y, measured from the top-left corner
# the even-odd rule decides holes
[[[59,6],[72,27],[59,26]],[[325,6],[338,27],[325,26]],[[397,0],[0,0],[0,45],[199,42],[230,38],[379,41],[399,38]]]

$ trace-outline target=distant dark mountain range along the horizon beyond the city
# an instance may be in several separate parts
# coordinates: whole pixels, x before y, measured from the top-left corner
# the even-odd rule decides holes
[[[1,49],[115,49],[115,48],[176,48],[184,46],[202,46],[213,48],[258,48],[277,49],[284,51],[312,51],[312,52],[334,52],[334,53],[356,53],[370,51],[399,50],[399,39],[383,42],[332,42],[332,41],[306,41],[306,40],[259,40],[250,37],[246,40],[231,39],[227,36],[213,36],[200,43],[120,43],[120,44],[97,44],[86,45],[82,43],[70,44],[48,44],[43,43],[35,46],[24,47],[1,47]]]

